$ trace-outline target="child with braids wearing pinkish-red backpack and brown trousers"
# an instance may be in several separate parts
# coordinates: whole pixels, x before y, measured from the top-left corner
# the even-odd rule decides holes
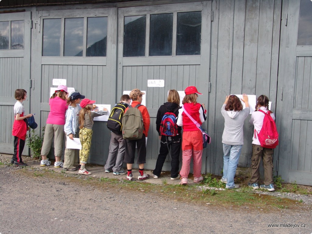
[[[269,99],[260,95],[257,100],[256,110],[252,112],[249,123],[254,125],[252,137],[251,178],[248,186],[253,189],[266,189],[274,191],[273,180],[273,149],[278,145],[278,133],[275,125],[275,116],[269,110]],[[264,184],[259,186],[260,161],[263,161]]]

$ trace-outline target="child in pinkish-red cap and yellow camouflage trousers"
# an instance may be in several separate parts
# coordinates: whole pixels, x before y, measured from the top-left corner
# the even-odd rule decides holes
[[[106,108],[103,109],[104,111],[95,112],[98,110],[98,108],[96,108],[96,106],[93,108],[93,103],[95,103],[94,100],[90,100],[87,98],[82,100],[80,103],[82,109],[79,112],[79,128],[81,129],[79,132],[79,139],[82,149],[79,151],[81,167],[78,171],[78,174],[81,175],[91,175],[91,172],[88,172],[85,168],[85,164],[87,163],[90,154],[91,139],[93,133],[93,118],[107,114]],[[93,109],[95,111],[92,111]]]

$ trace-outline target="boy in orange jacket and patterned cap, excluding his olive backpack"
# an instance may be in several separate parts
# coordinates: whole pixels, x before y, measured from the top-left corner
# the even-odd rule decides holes
[[[143,92],[141,92],[139,89],[134,89],[130,92],[130,98],[132,100],[132,108],[135,108],[136,105],[142,103],[142,96]],[[132,180],[132,164],[134,163],[134,153],[135,153],[135,144],[137,144],[138,147],[138,161],[139,164],[139,177],[138,180],[146,180],[149,178],[149,175],[144,174],[144,163],[146,163],[146,144],[145,144],[145,137],[147,137],[147,134],[149,132],[149,112],[147,111],[147,108],[144,105],[141,105],[138,107],[139,111],[142,114],[143,117],[143,136],[141,139],[137,140],[129,140],[126,139],[126,151],[124,154],[124,162],[127,163],[127,180]],[[125,113],[129,110],[129,107],[125,110]]]

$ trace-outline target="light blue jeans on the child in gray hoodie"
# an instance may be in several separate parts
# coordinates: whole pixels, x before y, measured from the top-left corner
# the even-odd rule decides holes
[[[223,176],[227,181],[225,188],[234,188],[234,176],[243,145],[223,144]]]

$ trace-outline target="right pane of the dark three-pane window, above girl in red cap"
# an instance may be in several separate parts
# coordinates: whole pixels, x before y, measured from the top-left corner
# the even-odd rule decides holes
[[[181,12],[177,15],[176,55],[200,55],[202,12]]]

